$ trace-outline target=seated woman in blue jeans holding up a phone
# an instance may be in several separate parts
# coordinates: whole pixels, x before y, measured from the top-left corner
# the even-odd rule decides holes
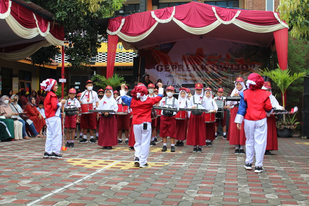
[[[17,101],[18,101],[17,95],[12,95],[10,101],[11,101],[10,102],[10,107],[11,107],[13,112],[15,112],[15,113],[23,113],[23,110],[17,104]],[[12,118],[17,118],[19,122],[23,123],[23,139],[30,139],[30,137],[28,137],[27,133],[26,133],[26,125],[27,125],[27,127],[30,129],[30,131],[32,132],[32,134],[35,137],[41,137],[41,138],[44,137],[42,135],[39,135],[39,133],[37,133],[36,128],[34,127],[34,124],[33,124],[33,122],[30,119],[24,121],[21,117],[19,117],[19,115],[12,116]]]

